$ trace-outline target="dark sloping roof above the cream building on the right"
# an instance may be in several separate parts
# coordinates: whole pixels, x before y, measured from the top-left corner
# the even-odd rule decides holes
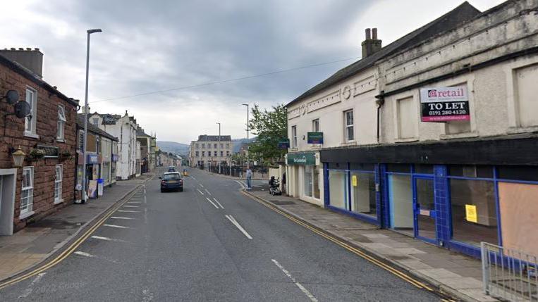
[[[357,73],[360,73],[366,68],[372,67],[374,63],[381,58],[384,58],[395,53],[396,51],[401,51],[408,48],[409,46],[427,40],[430,37],[439,34],[440,32],[452,30],[458,25],[474,19],[479,14],[480,11],[477,10],[475,6],[472,6],[467,1],[465,1],[463,2],[463,4],[460,4],[458,7],[454,8],[452,11],[449,11],[448,13],[433,20],[427,25],[424,25],[417,30],[410,32],[409,34],[405,34],[405,36],[383,47],[376,53],[367,56],[366,58],[362,58],[359,61],[352,63],[345,68],[342,68],[341,70],[338,70],[336,73],[334,73],[334,75],[331,75],[331,77],[327,78],[323,82],[320,82],[316,86],[307,90],[307,92],[301,94],[296,99],[288,103],[286,107],[291,106],[294,103],[301,101],[302,99],[306,99],[308,96],[312,96],[313,94],[316,94],[317,92],[320,92],[333,84],[341,82],[348,77],[356,75]]]

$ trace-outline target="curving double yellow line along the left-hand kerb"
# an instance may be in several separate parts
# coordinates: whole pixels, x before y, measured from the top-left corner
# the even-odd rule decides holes
[[[86,239],[88,239],[88,237],[90,237],[92,235],[92,233],[95,232],[95,230],[98,227],[100,227],[107,219],[109,219],[110,216],[112,214],[114,214],[114,212],[116,212],[116,210],[118,210],[118,208],[121,208],[121,206],[123,206],[123,204],[125,204],[139,190],[140,190],[140,188],[135,189],[133,192],[128,194],[128,197],[126,197],[121,203],[118,203],[116,206],[110,208],[108,210],[108,212],[106,212],[106,214],[101,219],[99,219],[92,227],[90,227],[90,229],[87,229],[86,232],[81,237],[79,237],[77,240],[75,240],[73,242],[73,244],[71,244],[71,246],[69,246],[68,248],[66,248],[65,251],[63,251],[58,256],[56,256],[56,258],[50,260],[47,264],[45,264],[45,265],[43,265],[43,266],[41,266],[41,267],[39,267],[39,268],[37,268],[35,270],[32,270],[31,272],[27,272],[24,275],[20,275],[19,277],[16,277],[16,278],[10,279],[10,280],[8,280],[8,281],[6,281],[4,283],[1,283],[0,284],[0,289],[4,289],[4,287],[8,287],[8,286],[10,286],[12,284],[15,284],[17,282],[23,281],[23,280],[28,279],[28,278],[30,278],[32,276],[35,276],[35,275],[39,274],[40,272],[44,272],[45,270],[48,270],[49,268],[54,267],[54,265],[60,263],[63,259],[65,259],[69,255],[71,255],[71,253],[73,253],[75,251],[75,249],[77,249],[78,246],[80,246],[80,244],[82,244],[82,242],[84,242]]]

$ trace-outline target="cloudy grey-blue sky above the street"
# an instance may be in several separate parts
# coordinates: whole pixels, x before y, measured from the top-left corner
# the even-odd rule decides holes
[[[245,137],[243,103],[292,101],[357,61],[365,28],[387,45],[462,2],[2,0],[0,47],[39,48],[43,80],[82,105],[86,30],[101,28],[90,43],[90,111],[128,111],[157,140],[189,144],[219,134],[216,122]],[[503,1],[469,2],[485,11]]]

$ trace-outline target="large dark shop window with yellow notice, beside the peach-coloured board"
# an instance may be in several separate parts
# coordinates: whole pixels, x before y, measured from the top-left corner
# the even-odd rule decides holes
[[[475,246],[498,244],[494,182],[451,179],[450,194],[452,239]]]

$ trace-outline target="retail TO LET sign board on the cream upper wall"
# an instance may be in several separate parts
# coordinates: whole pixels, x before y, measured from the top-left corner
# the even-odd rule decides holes
[[[466,86],[420,89],[422,122],[470,120]]]

